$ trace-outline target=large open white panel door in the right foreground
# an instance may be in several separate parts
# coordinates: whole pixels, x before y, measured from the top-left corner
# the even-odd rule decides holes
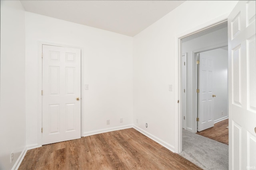
[[[255,0],[228,17],[229,168],[256,169]]]

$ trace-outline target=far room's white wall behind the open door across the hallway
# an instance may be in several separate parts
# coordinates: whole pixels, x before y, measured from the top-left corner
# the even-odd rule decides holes
[[[214,49],[200,53],[213,59],[212,91],[214,123],[228,118],[228,50]],[[223,112],[222,112],[223,111]]]

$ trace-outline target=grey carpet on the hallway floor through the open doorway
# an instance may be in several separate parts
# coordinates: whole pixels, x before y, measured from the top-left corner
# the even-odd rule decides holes
[[[204,170],[228,170],[228,145],[184,129],[180,155]]]

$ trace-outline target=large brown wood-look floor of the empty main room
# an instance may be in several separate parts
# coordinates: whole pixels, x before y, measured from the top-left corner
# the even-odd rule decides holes
[[[19,170],[201,169],[133,128],[28,150]]]

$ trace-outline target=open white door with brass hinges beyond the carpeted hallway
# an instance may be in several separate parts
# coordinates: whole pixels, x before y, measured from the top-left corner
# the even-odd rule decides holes
[[[198,108],[198,131],[203,131],[214,126],[213,118],[213,96],[212,96],[212,56],[204,53],[198,55],[199,66],[199,108]]]

